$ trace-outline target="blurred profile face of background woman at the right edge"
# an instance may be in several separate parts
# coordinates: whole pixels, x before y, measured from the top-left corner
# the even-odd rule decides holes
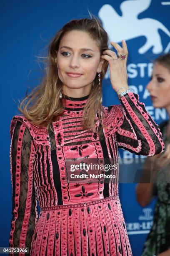
[[[151,81],[147,85],[155,108],[170,107],[170,72],[159,63],[155,63]]]

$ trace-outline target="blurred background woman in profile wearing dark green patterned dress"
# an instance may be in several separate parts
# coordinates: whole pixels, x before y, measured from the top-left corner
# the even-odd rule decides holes
[[[159,56],[154,61],[153,74],[146,87],[155,108],[165,108],[170,117],[170,54]],[[163,133],[165,151],[148,157],[143,166],[143,177],[150,170],[151,183],[139,183],[137,200],[147,206],[157,196],[153,226],[143,248],[143,256],[170,255],[170,121],[159,125]]]

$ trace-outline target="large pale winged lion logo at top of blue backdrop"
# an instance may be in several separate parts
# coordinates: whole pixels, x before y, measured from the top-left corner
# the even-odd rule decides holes
[[[152,18],[138,19],[138,15],[147,10],[152,0],[127,0],[121,3],[122,16],[118,15],[111,5],[103,5],[99,10],[99,18],[110,39],[120,42],[123,39],[129,40],[139,36],[146,37],[146,43],[138,50],[144,54],[151,47],[154,54],[163,52],[161,37],[158,29],[161,29],[170,37],[170,31],[158,20]],[[115,26],[114,26],[115,24]],[[170,43],[166,47],[168,50]]]

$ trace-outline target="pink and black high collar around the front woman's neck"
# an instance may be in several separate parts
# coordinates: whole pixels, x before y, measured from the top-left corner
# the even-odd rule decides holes
[[[64,95],[62,98],[62,104],[65,106],[65,110],[68,111],[83,110],[88,97],[89,95],[80,98],[68,97]]]

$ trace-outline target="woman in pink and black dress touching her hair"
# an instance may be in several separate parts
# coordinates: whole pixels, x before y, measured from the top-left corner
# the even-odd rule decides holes
[[[30,255],[41,256],[132,255],[118,167],[110,172],[114,182],[67,179],[67,159],[117,162],[118,147],[147,156],[164,149],[158,125],[128,87],[125,41],[122,47],[111,45],[118,56],[108,49],[96,18],[65,24],[50,43],[42,84],[21,102],[23,115],[11,121],[11,247],[28,247]],[[121,105],[103,107],[108,65]]]

